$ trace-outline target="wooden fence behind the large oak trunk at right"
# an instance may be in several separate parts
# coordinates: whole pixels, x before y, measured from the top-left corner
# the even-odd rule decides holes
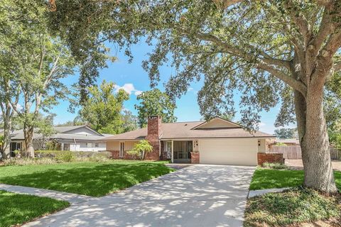
[[[300,146],[272,146],[267,153],[282,153],[285,159],[302,159]],[[330,158],[341,160],[341,148],[330,148]]]

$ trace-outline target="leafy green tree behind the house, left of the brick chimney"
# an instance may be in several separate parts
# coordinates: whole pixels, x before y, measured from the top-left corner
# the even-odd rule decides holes
[[[80,109],[82,121],[89,123],[99,133],[117,134],[124,131],[121,111],[129,94],[123,89],[114,94],[114,89],[115,84],[105,80],[99,87],[90,87],[89,98]]]

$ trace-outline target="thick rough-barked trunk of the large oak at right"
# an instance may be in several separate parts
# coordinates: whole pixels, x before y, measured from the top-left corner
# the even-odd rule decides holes
[[[304,185],[323,192],[336,192],[329,140],[323,114],[323,87],[312,85],[307,98],[295,91],[295,109],[304,169]]]

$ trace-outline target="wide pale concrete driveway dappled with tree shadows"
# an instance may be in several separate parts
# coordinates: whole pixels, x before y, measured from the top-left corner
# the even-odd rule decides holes
[[[242,226],[254,169],[193,165],[24,226]]]

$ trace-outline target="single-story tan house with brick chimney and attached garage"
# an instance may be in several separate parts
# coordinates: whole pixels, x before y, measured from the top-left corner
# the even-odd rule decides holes
[[[103,141],[114,158],[132,158],[126,151],[146,139],[153,145],[153,151],[146,155],[147,160],[257,165],[259,159],[264,161],[268,157],[266,139],[275,138],[260,131],[251,134],[239,124],[219,117],[210,121],[161,121],[160,116],[150,116],[147,128],[112,135]]]

